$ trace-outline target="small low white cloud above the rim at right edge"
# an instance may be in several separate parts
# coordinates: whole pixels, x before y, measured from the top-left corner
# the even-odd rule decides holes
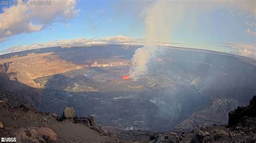
[[[230,49],[231,54],[256,59],[256,44],[225,43],[223,44],[223,47]]]

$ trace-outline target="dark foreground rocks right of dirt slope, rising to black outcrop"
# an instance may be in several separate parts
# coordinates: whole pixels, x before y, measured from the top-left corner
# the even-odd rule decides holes
[[[191,132],[119,131],[121,139],[151,142],[256,142],[256,104],[254,96],[248,106],[229,113],[228,126],[212,125]]]

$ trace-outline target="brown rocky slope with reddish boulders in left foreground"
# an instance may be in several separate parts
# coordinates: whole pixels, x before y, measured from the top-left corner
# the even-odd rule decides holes
[[[117,141],[107,136],[94,118],[86,118],[90,126],[79,120],[83,118],[59,121],[54,113],[43,113],[23,104],[11,108],[8,103],[0,101],[0,137],[16,138],[17,142]]]

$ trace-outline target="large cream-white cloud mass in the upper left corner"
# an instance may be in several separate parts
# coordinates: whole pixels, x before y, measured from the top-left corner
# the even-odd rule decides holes
[[[0,13],[0,39],[41,31],[53,22],[72,19],[80,12],[75,7],[76,0],[52,0],[50,5],[31,5],[29,0],[26,5],[4,8],[3,13]]]

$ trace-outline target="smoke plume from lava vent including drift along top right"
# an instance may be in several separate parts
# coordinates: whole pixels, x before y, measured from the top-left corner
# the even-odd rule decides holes
[[[136,81],[147,74],[150,60],[154,58],[158,49],[157,41],[166,42],[171,39],[173,28],[179,28],[183,18],[186,25],[194,29],[197,25],[198,13],[207,13],[211,10],[228,9],[230,12],[242,12],[246,15],[255,15],[256,1],[165,1],[158,0],[144,9],[145,40],[142,48],[136,49],[132,57],[133,66],[130,77]],[[189,16],[188,16],[189,15]]]

